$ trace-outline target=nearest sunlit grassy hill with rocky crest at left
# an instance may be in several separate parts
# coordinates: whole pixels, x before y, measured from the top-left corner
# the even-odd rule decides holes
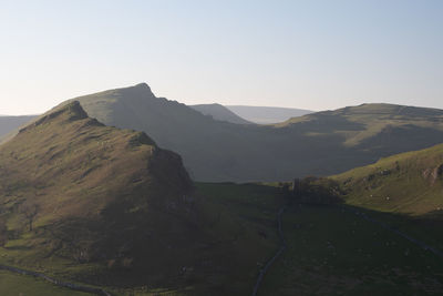
[[[132,91],[140,88],[148,93]],[[143,132],[103,125],[73,101],[0,146],[3,244],[28,254],[27,264],[51,257],[174,277],[198,233],[192,188],[177,154]],[[174,247],[165,252],[164,242]]]

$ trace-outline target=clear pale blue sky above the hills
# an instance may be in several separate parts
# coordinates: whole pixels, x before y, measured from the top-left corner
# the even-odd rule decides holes
[[[186,104],[443,109],[443,1],[1,1],[0,114],[146,82]]]

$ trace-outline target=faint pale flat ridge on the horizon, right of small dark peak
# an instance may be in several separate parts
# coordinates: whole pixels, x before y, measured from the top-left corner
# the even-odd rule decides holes
[[[313,113],[309,110],[279,106],[227,105],[226,108],[240,118],[259,124],[279,123],[290,118]]]

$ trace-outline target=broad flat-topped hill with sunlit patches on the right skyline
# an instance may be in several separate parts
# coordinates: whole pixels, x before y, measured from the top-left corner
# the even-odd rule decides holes
[[[331,132],[344,146],[390,155],[442,141],[443,110],[393,104],[362,104],[290,119],[278,124],[311,133]]]

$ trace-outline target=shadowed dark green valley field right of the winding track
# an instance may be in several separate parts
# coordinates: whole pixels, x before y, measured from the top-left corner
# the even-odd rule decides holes
[[[442,261],[341,207],[284,216],[288,248],[258,295],[440,295]]]

